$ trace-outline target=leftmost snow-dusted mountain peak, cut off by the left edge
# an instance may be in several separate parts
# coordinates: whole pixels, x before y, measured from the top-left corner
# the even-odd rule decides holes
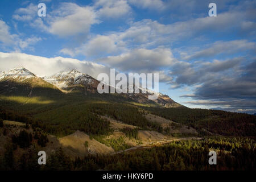
[[[20,81],[26,80],[27,78],[36,77],[34,73],[31,73],[26,68],[14,68],[9,71],[0,72],[0,80],[6,80],[10,78],[18,79]]]

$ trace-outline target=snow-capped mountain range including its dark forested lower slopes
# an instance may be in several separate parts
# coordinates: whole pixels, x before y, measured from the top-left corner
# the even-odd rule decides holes
[[[184,125],[196,129],[199,135],[255,135],[254,115],[190,109],[161,93],[157,100],[148,100],[148,94],[152,92],[99,94],[99,83],[92,76],[76,70],[47,77],[36,76],[23,67],[0,72],[0,114],[3,119],[35,123],[57,136],[77,130],[86,134],[108,134],[109,123],[101,117],[166,135],[172,135],[171,127],[182,128]],[[148,117],[148,114],[152,116]],[[151,122],[156,116],[181,126]]]

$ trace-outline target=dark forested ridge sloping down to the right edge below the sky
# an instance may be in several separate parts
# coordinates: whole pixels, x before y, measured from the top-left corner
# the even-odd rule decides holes
[[[225,136],[256,136],[256,116],[222,110],[190,109],[188,107],[142,107],[152,114],[192,126],[204,136],[206,129]]]

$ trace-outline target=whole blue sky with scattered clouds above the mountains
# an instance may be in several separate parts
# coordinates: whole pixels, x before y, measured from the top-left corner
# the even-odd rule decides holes
[[[0,71],[159,73],[180,104],[256,113],[255,20],[246,0],[1,0]]]

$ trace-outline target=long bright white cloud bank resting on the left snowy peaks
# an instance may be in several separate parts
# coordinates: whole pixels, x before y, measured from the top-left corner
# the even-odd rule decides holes
[[[53,73],[77,69],[97,78],[99,73],[109,73],[104,65],[90,61],[80,61],[65,57],[41,57],[27,55],[26,53],[3,53],[0,52],[0,69],[5,71],[14,67],[24,67],[36,75],[52,75]]]

